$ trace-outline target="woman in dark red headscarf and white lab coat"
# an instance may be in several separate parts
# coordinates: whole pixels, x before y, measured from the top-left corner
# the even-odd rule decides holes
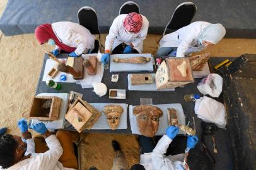
[[[95,36],[87,28],[68,21],[39,25],[35,29],[35,37],[40,45],[48,42],[56,45],[52,54],[59,55],[61,50],[69,52],[70,57],[87,54],[94,48]]]

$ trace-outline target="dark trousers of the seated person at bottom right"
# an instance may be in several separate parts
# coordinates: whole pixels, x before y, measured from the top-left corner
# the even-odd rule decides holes
[[[139,135],[139,145],[141,147],[141,154],[151,153],[156,147],[156,144],[161,139],[162,136],[154,136],[154,137],[145,137],[143,135]],[[172,143],[169,145],[166,150],[166,156],[168,155],[177,155],[184,153],[184,150],[187,147],[186,140],[183,135],[175,137]]]

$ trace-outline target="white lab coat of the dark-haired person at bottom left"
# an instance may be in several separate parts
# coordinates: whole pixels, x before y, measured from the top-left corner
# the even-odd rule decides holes
[[[26,140],[27,149],[25,155],[32,154],[28,159],[24,159],[15,165],[7,168],[8,170],[75,170],[72,168],[63,167],[59,158],[62,155],[63,149],[59,140],[55,135],[50,135],[45,139],[49,150],[45,153],[35,153],[35,142],[33,139]]]

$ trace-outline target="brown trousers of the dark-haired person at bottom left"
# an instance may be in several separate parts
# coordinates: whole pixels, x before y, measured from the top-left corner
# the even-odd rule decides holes
[[[59,158],[59,161],[62,163],[64,167],[78,169],[78,161],[74,154],[73,147],[73,141],[76,141],[76,139],[74,139],[75,135],[71,134],[71,132],[68,131],[58,130],[56,133],[56,137],[63,148],[63,154]],[[78,139],[77,136],[76,138]],[[42,137],[41,135],[35,136],[34,141],[36,153],[44,153],[47,150],[49,150],[45,143],[44,137]]]

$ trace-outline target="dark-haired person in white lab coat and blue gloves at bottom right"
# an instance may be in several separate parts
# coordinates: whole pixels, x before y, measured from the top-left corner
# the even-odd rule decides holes
[[[197,136],[187,137],[187,149],[185,154],[178,154],[175,156],[165,156],[166,150],[176,137],[179,129],[175,126],[170,126],[166,130],[166,135],[163,135],[158,141],[153,152],[141,154],[140,165],[136,164],[131,167],[131,170],[141,169],[142,166],[146,170],[177,170],[177,169],[212,169],[212,164],[207,159],[206,155],[194,147],[198,142]],[[196,155],[196,156],[195,156]]]

